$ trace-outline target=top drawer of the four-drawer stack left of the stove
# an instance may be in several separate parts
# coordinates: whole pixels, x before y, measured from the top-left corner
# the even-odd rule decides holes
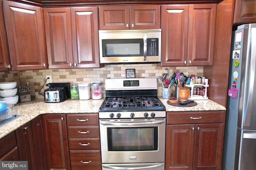
[[[98,113],[67,114],[68,126],[99,125]]]

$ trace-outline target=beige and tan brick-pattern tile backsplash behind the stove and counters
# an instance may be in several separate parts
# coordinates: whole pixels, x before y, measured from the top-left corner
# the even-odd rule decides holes
[[[43,86],[46,76],[52,76],[52,82],[69,82],[70,86],[73,83],[82,82],[101,82],[102,96],[105,97],[104,80],[107,78],[125,78],[125,70],[127,68],[135,68],[136,78],[156,77],[164,74],[165,68],[169,69],[169,77],[174,72],[183,72],[186,76],[195,74],[203,76],[203,66],[179,66],[179,67],[161,67],[157,64],[111,64],[103,65],[102,68],[76,68],[76,69],[48,69],[48,70],[26,70],[26,71],[10,71],[0,72],[0,82],[16,81],[19,84],[29,83],[31,90],[31,98],[44,98],[40,95],[44,93]],[[39,90],[40,94],[38,94]],[[174,86],[171,88],[174,95]],[[162,96],[162,85],[158,83],[158,96]]]

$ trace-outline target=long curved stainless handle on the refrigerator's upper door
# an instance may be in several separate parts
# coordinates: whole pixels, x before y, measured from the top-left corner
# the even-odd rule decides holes
[[[249,76],[248,78],[250,78],[249,80],[249,93],[248,93],[248,98],[247,98],[247,104],[246,104],[246,110],[245,110],[245,114],[244,114],[244,126],[250,126],[250,119],[251,114],[254,112],[254,108],[252,106],[254,106],[254,86],[256,85],[255,82],[255,77],[254,77],[254,73],[255,73],[255,64],[256,64],[256,28],[252,28],[251,29],[251,36],[250,36],[250,46],[248,46],[250,48],[250,70],[249,73],[253,74],[253,76]],[[246,56],[248,57],[248,56]]]

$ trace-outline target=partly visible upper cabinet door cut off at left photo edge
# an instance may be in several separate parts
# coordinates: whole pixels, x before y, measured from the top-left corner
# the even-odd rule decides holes
[[[8,45],[4,28],[4,16],[2,14],[2,0],[0,0],[0,71],[7,71],[10,65]]]

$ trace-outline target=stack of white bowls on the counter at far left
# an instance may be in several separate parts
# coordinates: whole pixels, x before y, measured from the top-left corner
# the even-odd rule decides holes
[[[0,100],[6,104],[16,104],[19,100],[16,85],[17,82],[0,82]]]

